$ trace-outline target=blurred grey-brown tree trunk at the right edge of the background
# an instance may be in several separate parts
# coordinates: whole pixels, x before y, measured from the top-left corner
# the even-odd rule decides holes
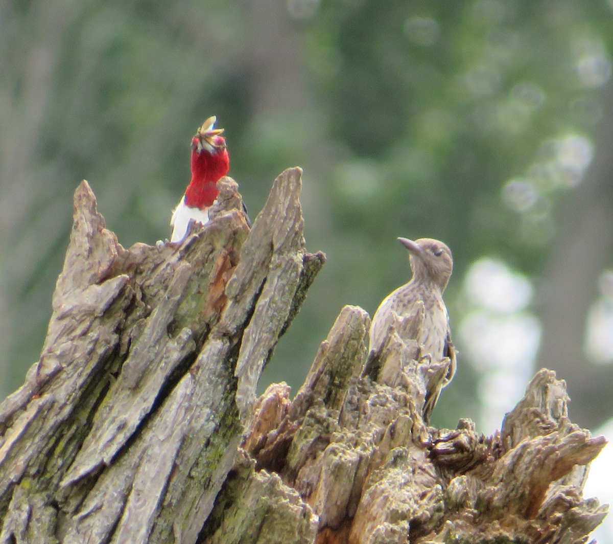
[[[613,83],[603,90],[603,112],[593,163],[558,210],[561,234],[539,293],[543,320],[539,361],[571,381],[573,418],[593,427],[613,416],[613,366],[590,362],[583,349],[598,276],[611,266],[613,252]]]

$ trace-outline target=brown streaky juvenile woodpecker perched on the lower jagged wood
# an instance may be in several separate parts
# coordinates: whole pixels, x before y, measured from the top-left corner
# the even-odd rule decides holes
[[[403,318],[415,313],[416,304],[424,305],[424,323],[413,339],[422,345],[421,358],[429,357],[432,362],[443,361],[449,357],[450,364],[447,374],[436,383],[427,385],[424,403],[424,421],[428,423],[430,414],[436,405],[438,396],[455,374],[455,352],[449,330],[449,315],[443,302],[443,291],[451,277],[454,266],[451,250],[443,243],[432,238],[408,240],[398,238],[409,250],[409,263],[413,277],[409,283],[392,291],[379,304],[370,326],[370,351],[376,353],[383,345],[388,329]],[[398,330],[402,340],[403,327]]]

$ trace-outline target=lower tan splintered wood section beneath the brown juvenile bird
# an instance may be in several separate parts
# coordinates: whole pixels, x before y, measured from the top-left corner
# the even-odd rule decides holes
[[[362,372],[369,325],[344,308],[294,402],[268,388],[243,440],[257,469],[278,473],[318,516],[314,542],[586,542],[607,513],[582,497],[606,440],[569,421],[564,381],[539,371],[501,434],[479,435],[466,419],[427,427],[433,368],[392,330]]]

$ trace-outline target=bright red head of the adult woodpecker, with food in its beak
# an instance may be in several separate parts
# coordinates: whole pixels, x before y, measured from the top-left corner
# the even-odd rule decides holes
[[[191,181],[185,191],[185,203],[204,209],[215,201],[219,191],[216,183],[230,169],[230,157],[223,128],[215,128],[215,115],[197,130],[191,141]]]

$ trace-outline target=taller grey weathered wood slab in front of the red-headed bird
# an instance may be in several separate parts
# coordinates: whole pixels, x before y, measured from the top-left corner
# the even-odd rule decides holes
[[[125,250],[86,182],[53,315],[0,406],[0,542],[196,542],[257,378],[324,262],[298,168],[249,228],[237,186],[180,245]]]

